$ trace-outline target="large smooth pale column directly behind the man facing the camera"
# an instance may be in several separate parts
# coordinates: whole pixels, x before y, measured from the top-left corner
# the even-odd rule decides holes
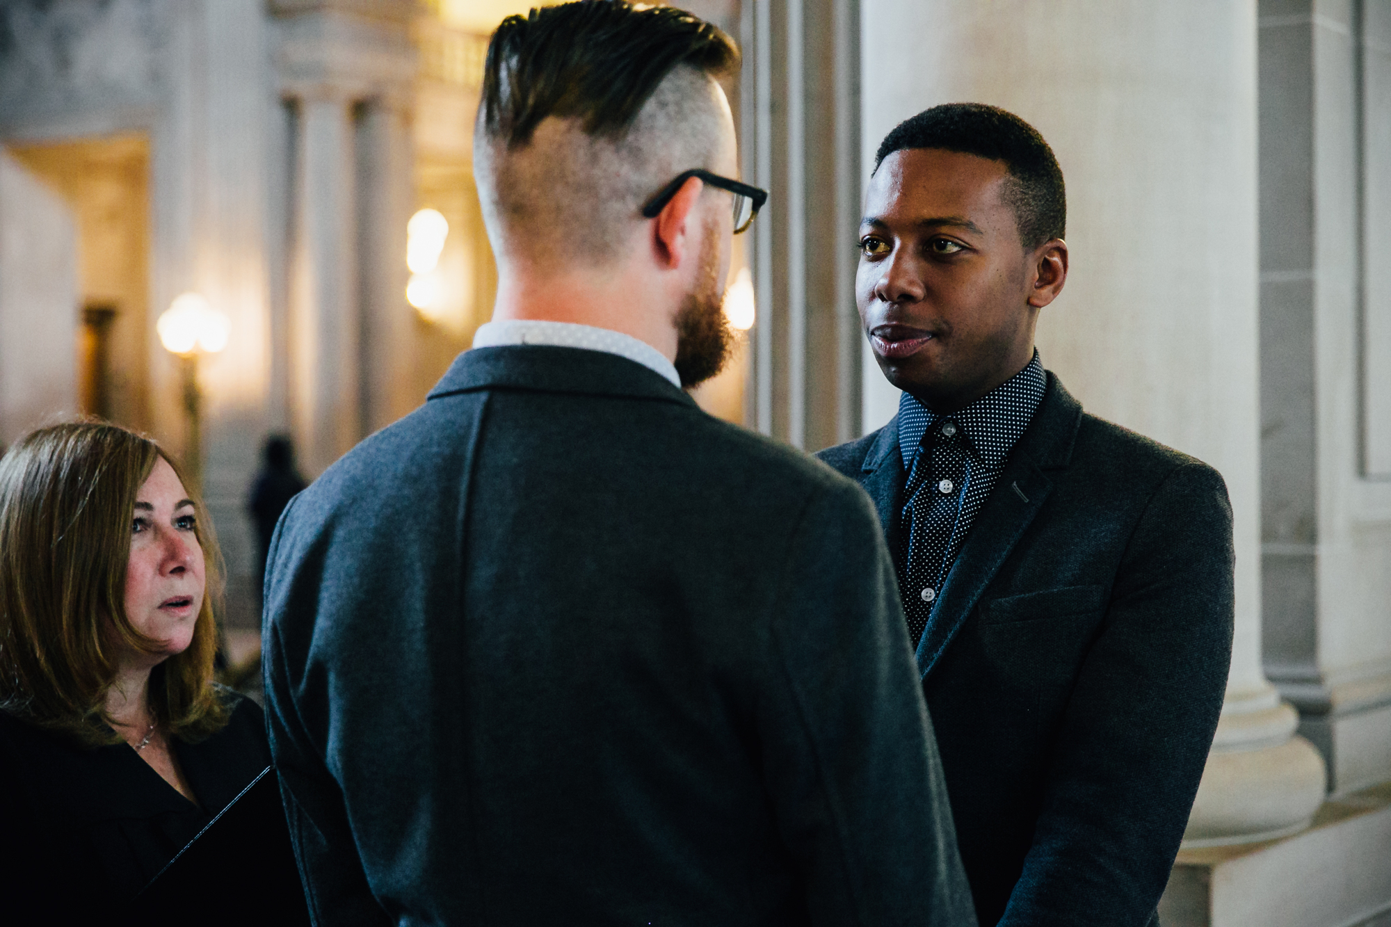
[[[1057,153],[1072,266],[1043,363],[1091,412],[1221,470],[1235,512],[1231,675],[1187,842],[1306,827],[1323,763],[1262,670],[1255,1],[885,0],[864,6],[861,60],[867,166],[954,100],[1018,113]],[[864,370],[868,430],[897,394]]]

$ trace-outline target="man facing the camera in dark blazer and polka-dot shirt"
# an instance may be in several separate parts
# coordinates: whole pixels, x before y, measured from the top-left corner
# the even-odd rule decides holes
[[[887,534],[981,924],[1155,923],[1227,679],[1223,479],[1040,366],[1064,191],[1022,120],[903,122],[864,214],[860,316],[903,397],[821,458]]]

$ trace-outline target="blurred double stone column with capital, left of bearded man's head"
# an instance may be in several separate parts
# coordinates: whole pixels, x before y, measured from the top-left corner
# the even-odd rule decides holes
[[[405,224],[416,50],[408,0],[273,0],[294,113],[288,419],[306,475],[406,411]]]

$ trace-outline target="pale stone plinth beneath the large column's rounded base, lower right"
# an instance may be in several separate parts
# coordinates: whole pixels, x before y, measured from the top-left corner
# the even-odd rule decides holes
[[[1294,835],[1182,849],[1159,902],[1164,927],[1391,924],[1391,782],[1330,799]]]

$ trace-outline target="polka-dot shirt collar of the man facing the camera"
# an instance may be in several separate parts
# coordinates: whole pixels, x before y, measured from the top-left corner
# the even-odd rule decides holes
[[[904,393],[899,397],[899,452],[903,454],[903,469],[912,472],[912,458],[924,436],[943,419],[957,423],[967,447],[985,464],[999,466],[1029,426],[1046,390],[1047,377],[1035,348],[1034,358],[1022,370],[951,415],[938,415]]]

